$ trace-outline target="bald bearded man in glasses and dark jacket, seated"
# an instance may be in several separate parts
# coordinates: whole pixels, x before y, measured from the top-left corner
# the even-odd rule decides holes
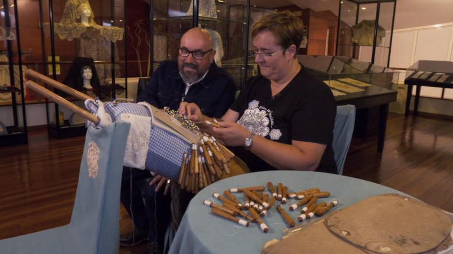
[[[234,101],[236,85],[214,63],[216,51],[211,33],[203,28],[188,30],[178,52],[178,61],[160,64],[137,101],[173,110],[178,110],[181,102],[196,103],[203,114],[220,118]],[[162,252],[165,229],[171,219],[170,199],[159,191],[166,182],[160,175],[152,177],[149,171],[124,168],[121,202],[133,220],[134,230],[121,237],[121,246],[151,241],[152,251]]]

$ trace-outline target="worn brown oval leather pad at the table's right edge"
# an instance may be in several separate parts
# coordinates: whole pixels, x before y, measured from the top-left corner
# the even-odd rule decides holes
[[[446,213],[398,194],[365,199],[331,214],[325,225],[355,246],[386,254],[429,251],[451,231]]]

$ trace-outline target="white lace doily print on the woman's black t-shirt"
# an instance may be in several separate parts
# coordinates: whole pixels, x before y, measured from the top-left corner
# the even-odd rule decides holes
[[[249,102],[249,108],[244,111],[237,123],[256,135],[264,137],[269,134],[271,140],[278,140],[282,136],[279,129],[272,129],[274,125],[272,110],[259,106],[257,100]]]

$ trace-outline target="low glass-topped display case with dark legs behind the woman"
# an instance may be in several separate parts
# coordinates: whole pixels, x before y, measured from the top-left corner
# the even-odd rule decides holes
[[[399,72],[344,56],[299,55],[299,61],[326,83],[337,105],[356,106],[354,135],[377,134],[382,152],[389,104],[396,101]]]

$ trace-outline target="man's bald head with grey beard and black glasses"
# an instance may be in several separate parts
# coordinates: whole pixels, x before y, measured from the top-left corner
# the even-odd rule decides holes
[[[181,37],[178,67],[181,76],[186,83],[193,83],[199,80],[214,62],[216,51],[213,49],[213,37],[204,28],[192,28]],[[182,56],[181,53],[189,53]],[[194,58],[193,52],[203,54],[202,59]],[[199,58],[199,57],[197,57]]]

